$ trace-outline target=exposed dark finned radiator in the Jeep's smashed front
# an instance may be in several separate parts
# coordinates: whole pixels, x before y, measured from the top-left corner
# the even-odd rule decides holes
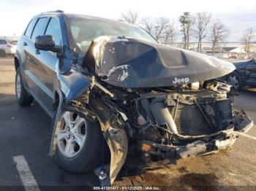
[[[173,116],[175,107],[171,107],[169,111]],[[211,133],[211,128],[196,105],[178,104],[175,122],[181,135],[197,136]]]

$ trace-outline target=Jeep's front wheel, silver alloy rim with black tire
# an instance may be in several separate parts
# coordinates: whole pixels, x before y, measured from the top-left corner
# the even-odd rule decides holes
[[[105,140],[97,122],[83,113],[64,110],[58,124],[56,161],[61,168],[78,173],[102,164]]]

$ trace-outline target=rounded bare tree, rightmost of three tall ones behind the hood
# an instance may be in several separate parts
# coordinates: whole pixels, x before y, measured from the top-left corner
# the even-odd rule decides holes
[[[216,49],[218,42],[225,41],[225,38],[228,36],[227,27],[220,21],[214,20],[211,25],[211,55],[214,55],[214,51]]]

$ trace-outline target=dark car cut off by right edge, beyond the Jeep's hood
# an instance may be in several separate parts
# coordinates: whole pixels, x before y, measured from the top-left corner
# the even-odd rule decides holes
[[[226,79],[228,84],[233,85],[237,90],[244,86],[256,87],[256,60],[233,63],[236,70],[228,74]]]

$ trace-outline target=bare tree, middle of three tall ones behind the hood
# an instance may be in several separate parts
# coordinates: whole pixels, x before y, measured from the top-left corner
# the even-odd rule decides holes
[[[206,38],[206,32],[211,23],[211,14],[208,12],[197,12],[194,17],[193,34],[197,41],[197,52],[202,51],[202,39]]]

